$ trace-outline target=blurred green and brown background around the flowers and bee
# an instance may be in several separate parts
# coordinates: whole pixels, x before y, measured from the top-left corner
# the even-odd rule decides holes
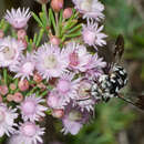
[[[105,4],[109,39],[115,40],[120,33],[125,39],[123,59],[130,75],[125,95],[136,96],[144,91],[144,0],[101,1]],[[65,0],[65,6],[71,4],[71,0]],[[30,7],[35,12],[41,9],[34,0],[0,0],[0,17],[11,7]],[[30,29],[29,34],[33,31]],[[99,104],[95,110],[95,119],[76,136],[60,134],[59,121],[48,116],[44,144],[144,144],[144,112],[119,99]]]

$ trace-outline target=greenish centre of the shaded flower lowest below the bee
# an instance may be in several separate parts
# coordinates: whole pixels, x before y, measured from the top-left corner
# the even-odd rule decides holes
[[[82,119],[82,114],[79,111],[72,110],[69,113],[69,119],[71,121],[80,121]]]

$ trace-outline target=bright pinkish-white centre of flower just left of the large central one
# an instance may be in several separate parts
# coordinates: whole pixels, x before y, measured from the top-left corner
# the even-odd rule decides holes
[[[33,71],[34,66],[31,62],[27,62],[22,65],[22,72],[24,73],[31,73]]]

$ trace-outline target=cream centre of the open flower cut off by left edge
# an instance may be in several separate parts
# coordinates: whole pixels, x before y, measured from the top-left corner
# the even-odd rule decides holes
[[[6,47],[2,50],[2,53],[7,60],[12,60],[14,58],[16,51],[14,49],[10,49],[9,47]]]

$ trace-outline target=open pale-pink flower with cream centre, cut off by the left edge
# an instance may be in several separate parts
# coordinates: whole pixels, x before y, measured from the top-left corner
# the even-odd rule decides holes
[[[22,50],[24,50],[23,44],[14,38],[0,39],[0,66],[18,63]]]

